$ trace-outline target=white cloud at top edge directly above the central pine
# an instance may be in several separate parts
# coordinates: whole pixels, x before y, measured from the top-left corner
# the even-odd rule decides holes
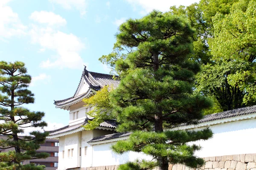
[[[199,0],[126,0],[134,8],[141,6],[142,14],[151,12],[153,9],[166,12],[169,11],[170,6],[189,6],[192,3],[199,2]]]

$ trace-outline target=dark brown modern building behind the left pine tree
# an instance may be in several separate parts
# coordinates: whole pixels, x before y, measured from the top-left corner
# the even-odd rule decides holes
[[[7,139],[7,136],[0,136],[0,139]],[[45,165],[46,170],[56,170],[58,168],[58,145],[58,139],[46,139],[37,152],[46,152],[50,156],[46,159],[25,160],[22,164],[35,163],[36,165]],[[0,152],[8,152],[9,150],[14,150],[14,148],[0,149]]]

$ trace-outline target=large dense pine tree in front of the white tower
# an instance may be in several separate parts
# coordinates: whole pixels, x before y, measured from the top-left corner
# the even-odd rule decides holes
[[[101,58],[120,75],[119,87],[108,95],[111,113],[119,122],[116,130],[133,132],[128,140],[113,145],[113,151],[142,152],[153,158],[128,162],[120,170],[156,166],[168,170],[169,163],[189,167],[204,164],[194,155],[200,147],[187,143],[209,139],[211,130],[169,129],[196,124],[203,117],[202,110],[211,105],[204,96],[193,94],[195,74],[200,70],[198,63],[189,59],[193,34],[184,17],[153,11],[119,27],[116,46],[122,52],[129,49],[125,55],[111,53]],[[94,104],[97,108],[97,102]]]

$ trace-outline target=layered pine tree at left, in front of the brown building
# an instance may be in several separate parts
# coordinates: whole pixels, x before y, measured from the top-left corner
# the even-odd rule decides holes
[[[32,112],[20,107],[34,102],[34,94],[29,91],[31,77],[23,62],[0,62],[0,134],[7,139],[0,139],[0,148],[14,148],[14,151],[0,153],[1,167],[16,170],[42,170],[43,166],[21,165],[28,159],[47,158],[48,153],[37,153],[40,144],[45,142],[48,132],[32,131],[29,136],[18,136],[27,127],[45,127],[43,112]]]

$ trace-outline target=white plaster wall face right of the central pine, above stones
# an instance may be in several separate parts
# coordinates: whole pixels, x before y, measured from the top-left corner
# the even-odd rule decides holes
[[[199,157],[224,156],[256,153],[256,119],[246,119],[211,125],[214,135],[207,141],[199,141],[202,149],[196,152]]]

